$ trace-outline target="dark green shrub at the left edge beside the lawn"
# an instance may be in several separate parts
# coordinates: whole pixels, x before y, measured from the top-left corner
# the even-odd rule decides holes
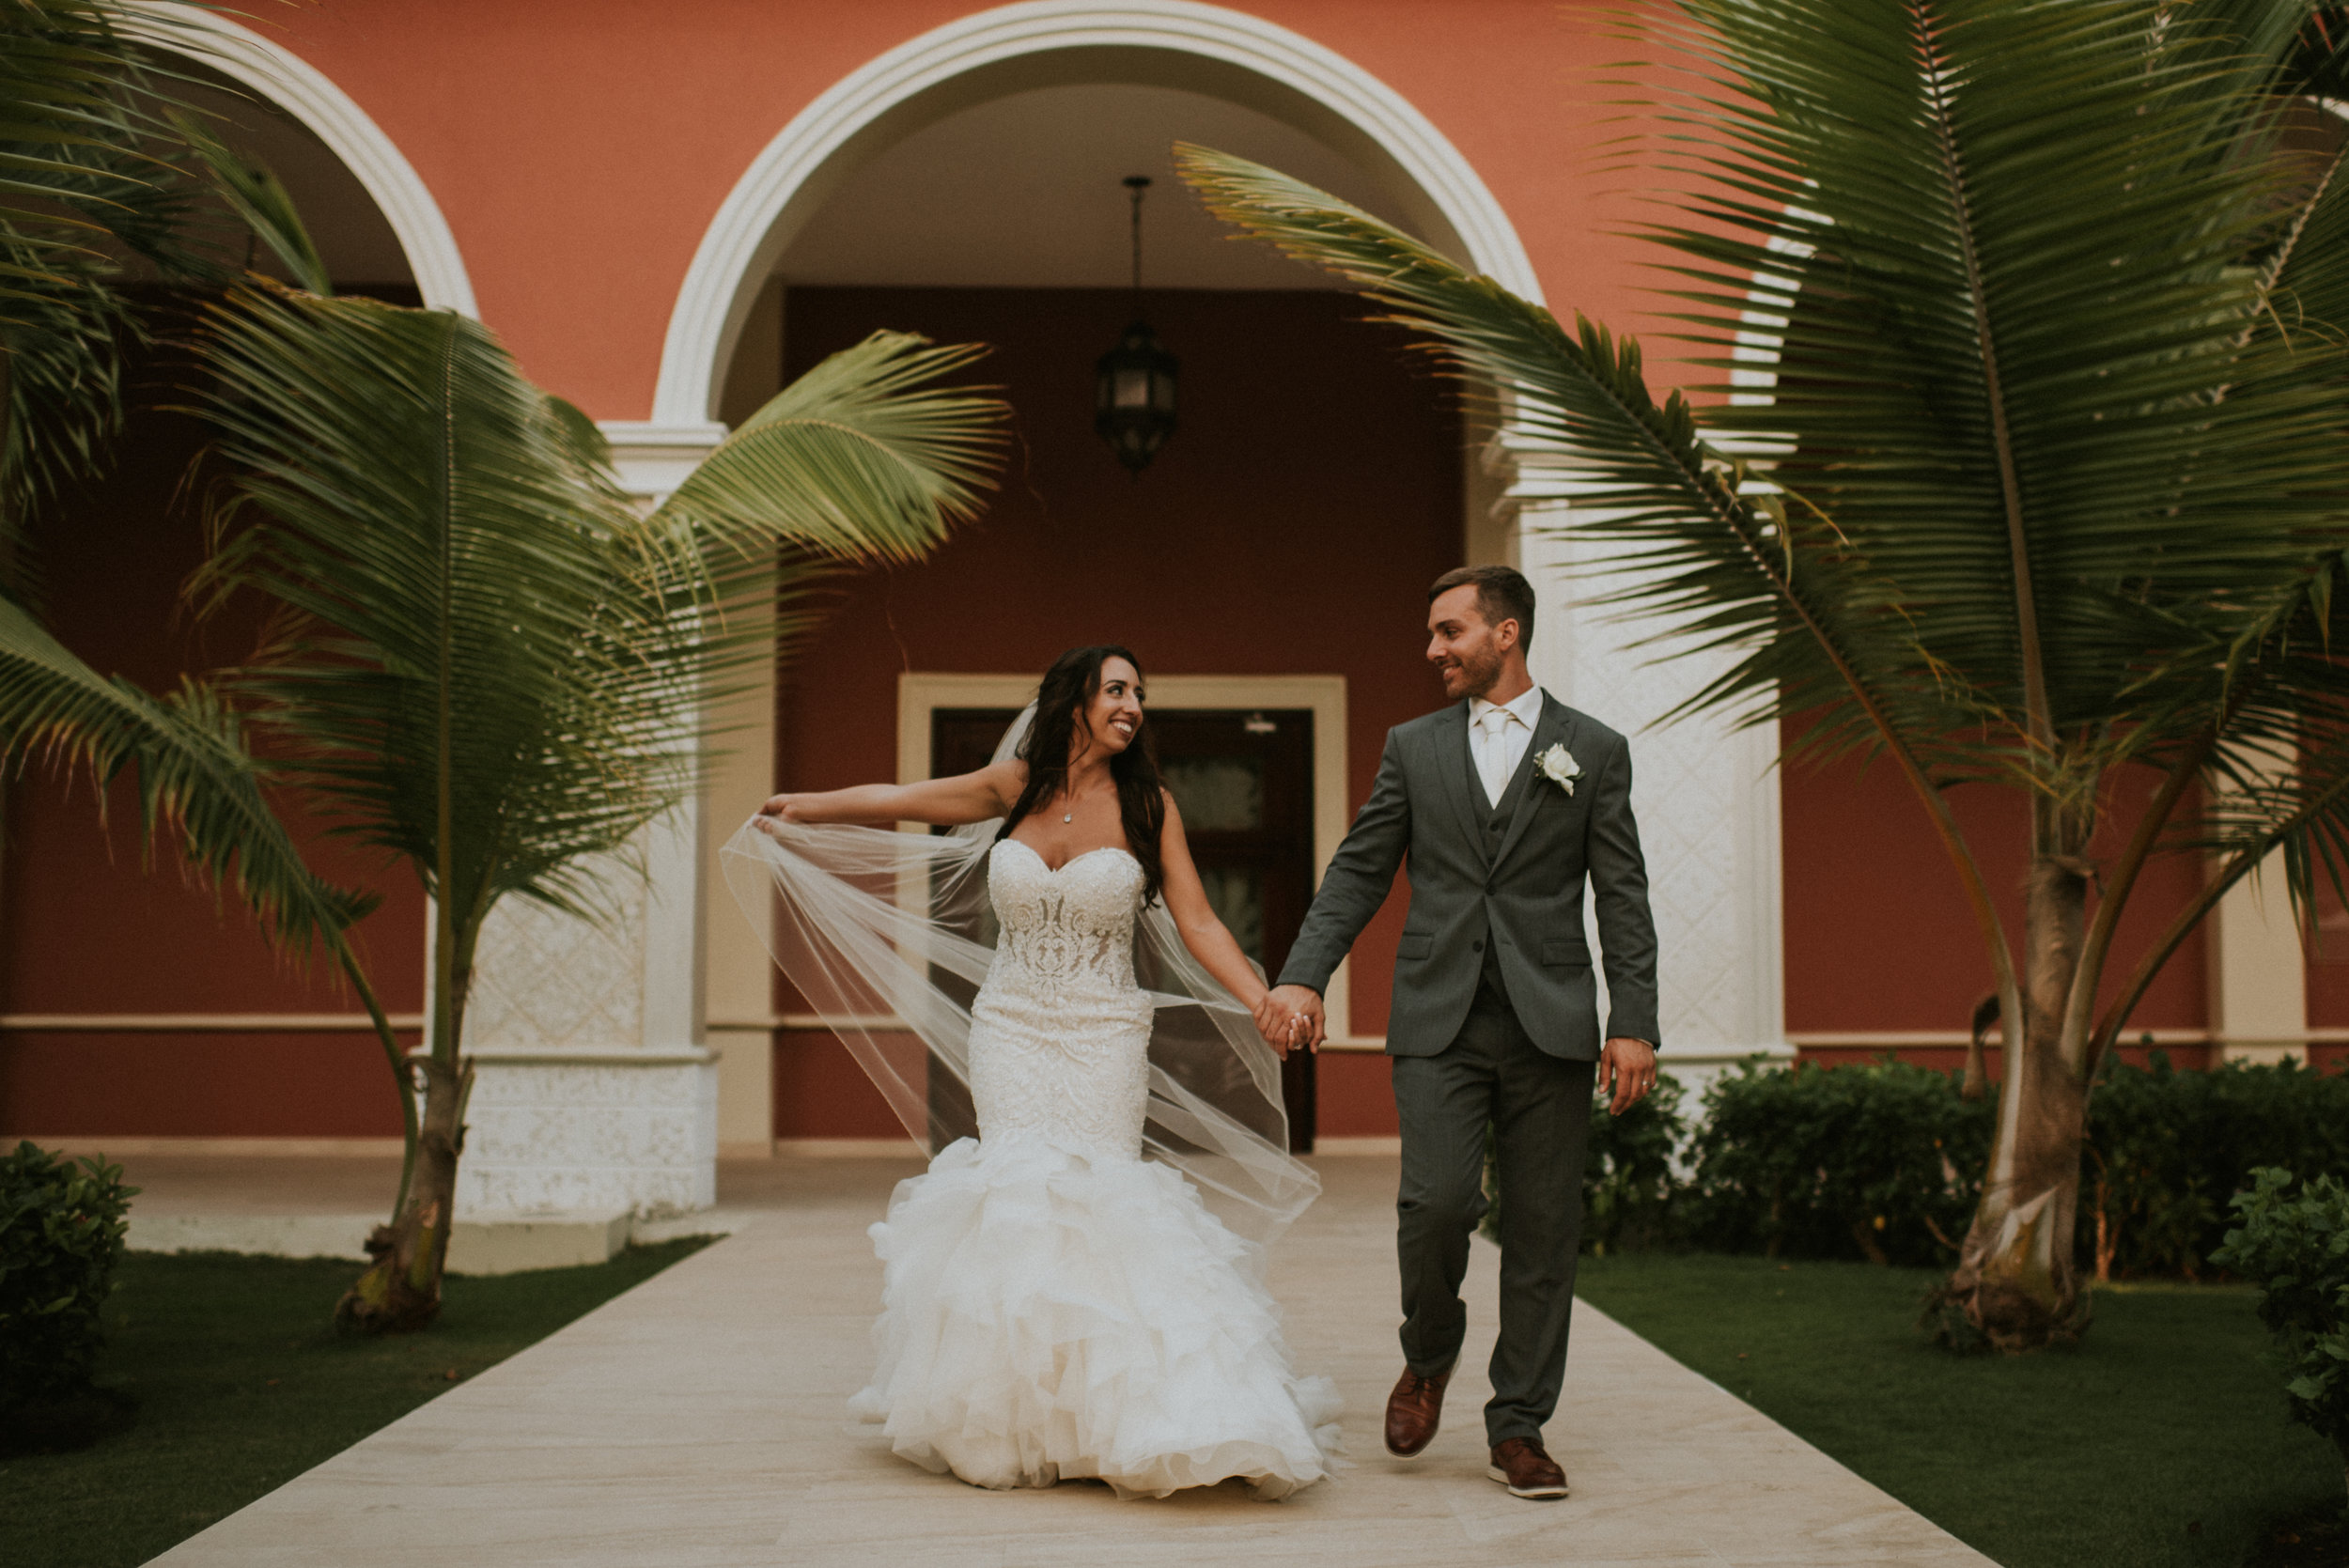
[[[33,1143],[0,1155],[0,1408],[89,1385],[136,1190],[122,1185],[120,1164]]]

